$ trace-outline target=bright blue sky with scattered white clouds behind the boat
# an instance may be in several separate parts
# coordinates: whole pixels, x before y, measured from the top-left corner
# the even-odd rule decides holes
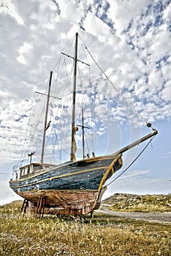
[[[94,69],[97,154],[112,154],[147,134],[147,121],[159,131],[104,197],[171,192],[170,17],[169,0],[1,0],[0,204],[20,199],[8,181],[23,150],[34,92],[76,32],[111,81]],[[58,93],[64,96],[62,85]],[[114,178],[144,146],[123,155]]]

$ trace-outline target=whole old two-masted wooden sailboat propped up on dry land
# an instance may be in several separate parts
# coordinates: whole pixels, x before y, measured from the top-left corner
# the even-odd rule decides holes
[[[122,166],[122,154],[134,146],[157,134],[156,129],[140,140],[121,148],[117,152],[100,157],[84,157],[75,159],[75,95],[77,76],[77,37],[75,38],[74,59],[74,88],[72,97],[72,142],[70,161],[61,165],[44,163],[44,148],[47,130],[47,113],[50,98],[50,72],[49,91],[47,94],[47,108],[45,114],[45,127],[42,142],[41,162],[31,162],[15,170],[18,175],[9,181],[15,193],[25,198],[26,203],[31,203],[37,213],[55,213],[63,215],[84,215],[99,208],[102,195],[105,191],[105,182],[115,171]],[[150,124],[148,124],[150,126]],[[81,125],[84,131],[84,124]],[[84,136],[83,136],[84,150]],[[33,153],[29,156],[31,157]]]

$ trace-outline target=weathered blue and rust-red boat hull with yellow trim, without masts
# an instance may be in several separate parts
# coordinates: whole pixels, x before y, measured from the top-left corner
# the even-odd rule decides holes
[[[47,213],[88,214],[99,207],[105,181],[121,165],[121,154],[95,157],[31,173],[9,186],[35,207],[43,197]]]

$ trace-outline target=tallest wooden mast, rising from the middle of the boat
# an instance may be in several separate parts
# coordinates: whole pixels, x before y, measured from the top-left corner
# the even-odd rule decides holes
[[[75,97],[76,97],[76,79],[77,79],[77,37],[78,33],[75,34],[75,66],[74,66],[74,83],[73,83],[73,94],[72,94],[72,143],[70,160],[75,161],[76,143],[75,133],[77,128],[75,127]]]

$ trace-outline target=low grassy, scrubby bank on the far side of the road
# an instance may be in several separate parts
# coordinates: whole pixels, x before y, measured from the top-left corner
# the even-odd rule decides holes
[[[115,194],[104,200],[112,211],[171,211],[171,195]]]

